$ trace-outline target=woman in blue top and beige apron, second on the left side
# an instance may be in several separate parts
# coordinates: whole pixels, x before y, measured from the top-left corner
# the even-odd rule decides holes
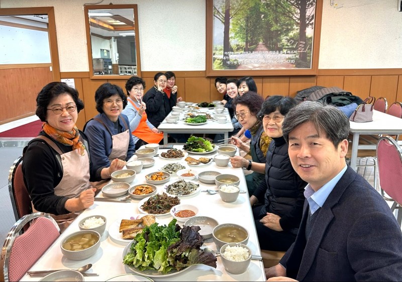
[[[102,169],[114,160],[122,169],[135,152],[130,122],[122,114],[127,105],[126,95],[120,86],[107,82],[96,89],[95,103],[99,114],[84,126],[92,144],[91,162],[96,169]],[[96,183],[98,188],[102,187],[100,184],[104,183]]]

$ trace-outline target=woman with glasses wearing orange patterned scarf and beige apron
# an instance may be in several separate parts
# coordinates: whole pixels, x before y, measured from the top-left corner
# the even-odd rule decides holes
[[[84,104],[76,89],[51,82],[36,98],[36,115],[43,122],[39,136],[24,148],[22,170],[34,211],[52,214],[63,231],[76,212],[93,204],[89,181],[106,179],[119,167],[96,170],[89,161],[90,145],[75,122]]]

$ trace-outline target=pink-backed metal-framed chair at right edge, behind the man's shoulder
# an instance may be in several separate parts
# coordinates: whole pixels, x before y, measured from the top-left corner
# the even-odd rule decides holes
[[[381,195],[387,201],[394,201],[391,207],[393,212],[395,209],[400,209],[402,204],[402,185],[400,183],[402,149],[392,137],[384,136],[378,140],[377,163]],[[400,211],[398,211],[397,220],[400,225],[402,221]]]

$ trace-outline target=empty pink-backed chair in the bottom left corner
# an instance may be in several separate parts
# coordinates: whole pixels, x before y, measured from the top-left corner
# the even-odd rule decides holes
[[[28,230],[18,235],[29,222]],[[4,242],[0,281],[20,280],[59,235],[60,228],[49,214],[38,212],[23,216],[11,228]]]

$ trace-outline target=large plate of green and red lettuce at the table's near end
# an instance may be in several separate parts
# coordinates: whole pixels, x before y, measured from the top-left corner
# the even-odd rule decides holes
[[[136,235],[123,251],[123,263],[137,274],[167,277],[181,273],[194,264],[217,267],[217,258],[203,252],[204,239],[199,226],[181,228],[172,219],[166,225],[154,223]]]

